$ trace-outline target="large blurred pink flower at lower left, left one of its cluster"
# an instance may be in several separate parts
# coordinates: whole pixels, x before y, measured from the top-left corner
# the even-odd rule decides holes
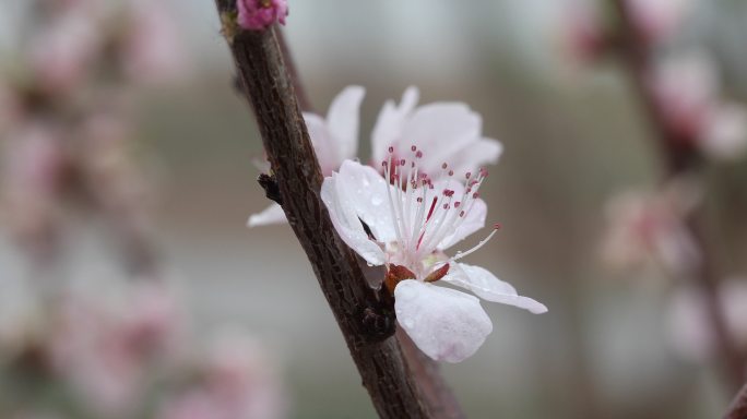
[[[50,360],[95,412],[131,415],[155,360],[174,348],[174,296],[142,280],[117,301],[80,291],[63,300],[50,342]]]

